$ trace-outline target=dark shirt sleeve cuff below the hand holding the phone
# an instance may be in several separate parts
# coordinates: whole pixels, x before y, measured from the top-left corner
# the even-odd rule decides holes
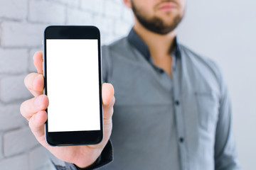
[[[53,162],[53,165],[57,170],[92,170],[92,169],[100,169],[100,167],[105,166],[106,164],[109,164],[113,161],[113,150],[112,150],[112,142],[109,140],[107,142],[107,145],[102,150],[102,153],[100,154],[100,157],[96,159],[96,161],[84,168],[80,169],[78,166],[75,166],[75,164],[69,163],[69,162],[63,162],[64,164],[57,164],[56,162]]]

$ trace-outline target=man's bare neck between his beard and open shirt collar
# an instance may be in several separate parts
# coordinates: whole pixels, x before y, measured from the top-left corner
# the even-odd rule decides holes
[[[134,30],[149,47],[153,60],[161,60],[162,57],[169,56],[174,48],[176,30],[166,35],[159,35],[147,30],[138,21],[135,21]]]

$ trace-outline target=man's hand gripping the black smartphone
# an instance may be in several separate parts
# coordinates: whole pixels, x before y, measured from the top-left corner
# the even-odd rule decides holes
[[[112,114],[114,106],[114,88],[112,84],[102,84],[103,125],[104,137],[98,145],[50,147],[46,143],[44,123],[47,120],[46,108],[49,105],[48,97],[43,94],[43,53],[36,52],[33,62],[38,73],[28,74],[24,80],[27,89],[34,98],[21,104],[21,115],[28,120],[28,125],[43,147],[46,147],[55,157],[65,162],[71,162],[78,167],[90,166],[100,156],[112,131]],[[60,72],[61,74],[61,72]]]

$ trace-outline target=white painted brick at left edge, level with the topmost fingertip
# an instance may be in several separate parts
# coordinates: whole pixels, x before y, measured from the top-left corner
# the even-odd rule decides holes
[[[28,52],[25,49],[0,49],[0,73],[20,73],[28,69]]]

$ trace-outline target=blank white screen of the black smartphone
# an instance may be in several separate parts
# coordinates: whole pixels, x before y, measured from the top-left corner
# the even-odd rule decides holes
[[[97,40],[47,39],[48,132],[100,130]]]

